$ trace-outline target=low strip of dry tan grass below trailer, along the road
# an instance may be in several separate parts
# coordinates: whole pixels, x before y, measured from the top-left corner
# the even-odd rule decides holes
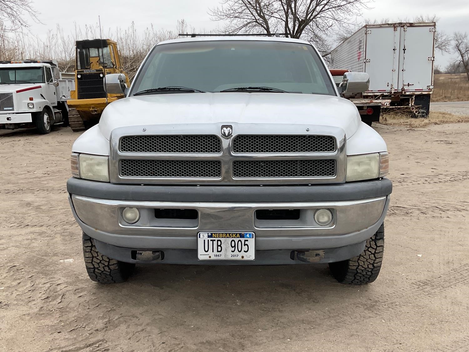
[[[391,113],[381,115],[380,120],[380,123],[384,125],[408,127],[425,127],[428,125],[439,125],[441,123],[457,122],[469,122],[469,116],[454,115],[439,111],[431,111],[430,116],[426,119],[416,119],[404,114]]]

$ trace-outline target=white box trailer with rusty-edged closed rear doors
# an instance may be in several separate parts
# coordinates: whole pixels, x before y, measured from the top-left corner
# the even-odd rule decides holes
[[[363,98],[391,99],[427,117],[433,92],[436,24],[367,24],[331,52],[332,69],[370,75]]]

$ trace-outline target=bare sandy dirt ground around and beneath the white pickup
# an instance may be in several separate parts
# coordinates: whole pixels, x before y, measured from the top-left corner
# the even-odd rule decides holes
[[[67,128],[0,136],[1,351],[468,351],[469,124],[377,125],[394,191],[381,274],[139,266],[86,275]]]

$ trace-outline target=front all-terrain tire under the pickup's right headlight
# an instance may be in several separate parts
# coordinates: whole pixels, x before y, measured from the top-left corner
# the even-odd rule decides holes
[[[365,249],[357,257],[329,263],[332,275],[340,283],[363,285],[376,280],[381,269],[384,251],[384,223],[366,240]]]

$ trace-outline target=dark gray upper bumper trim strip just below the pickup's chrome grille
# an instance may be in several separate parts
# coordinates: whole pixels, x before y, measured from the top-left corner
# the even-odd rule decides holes
[[[346,184],[312,186],[158,186],[109,184],[69,178],[67,191],[77,196],[169,202],[334,202],[362,200],[391,194],[387,178]]]

